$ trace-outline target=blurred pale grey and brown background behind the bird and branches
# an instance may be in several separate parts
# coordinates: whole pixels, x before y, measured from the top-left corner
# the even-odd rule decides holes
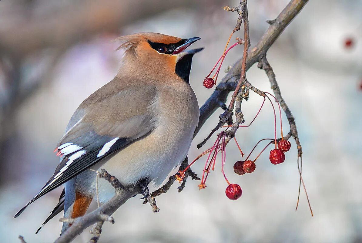
[[[249,1],[252,46],[268,28],[265,20],[275,18],[288,2]],[[58,202],[62,188],[39,199],[17,219],[13,215],[54,172],[59,160],[53,150],[77,106],[117,74],[122,51],[114,51],[118,46],[112,40],[136,32],[201,37],[194,45],[205,50],[195,55],[190,79],[201,106],[212,93],[203,87],[203,78],[222,54],[237,18],[221,8],[238,4],[238,0],[0,1],[2,242],[19,242],[18,235],[28,243],[52,242],[59,236],[61,214],[34,233]],[[218,164],[205,190],[199,191],[198,181],[189,179],[183,192],[178,193],[175,184],[157,197],[157,214],[142,205],[141,196],[127,201],[114,214],[115,224],[105,223],[99,242],[362,242],[361,12],[361,0],[310,1],[268,51],[296,119],[313,218],[303,191],[295,211],[299,176],[293,141],[283,164],[274,166],[265,152],[256,171],[241,177],[232,168],[241,156],[230,143],[225,169],[228,179],[243,188],[239,200],[225,196],[227,184]],[[242,35],[241,31],[234,36]],[[241,55],[241,46],[232,49],[222,70]],[[256,64],[247,77],[257,88],[270,90],[265,72]],[[261,102],[251,93],[243,103],[247,124]],[[201,152],[196,145],[220,113],[217,110],[194,139],[190,159]],[[273,111],[266,104],[251,127],[237,132],[242,150],[248,154],[257,141],[273,137],[273,126]],[[201,175],[204,161],[195,163],[193,171]],[[88,242],[90,237],[85,230],[73,242]]]

